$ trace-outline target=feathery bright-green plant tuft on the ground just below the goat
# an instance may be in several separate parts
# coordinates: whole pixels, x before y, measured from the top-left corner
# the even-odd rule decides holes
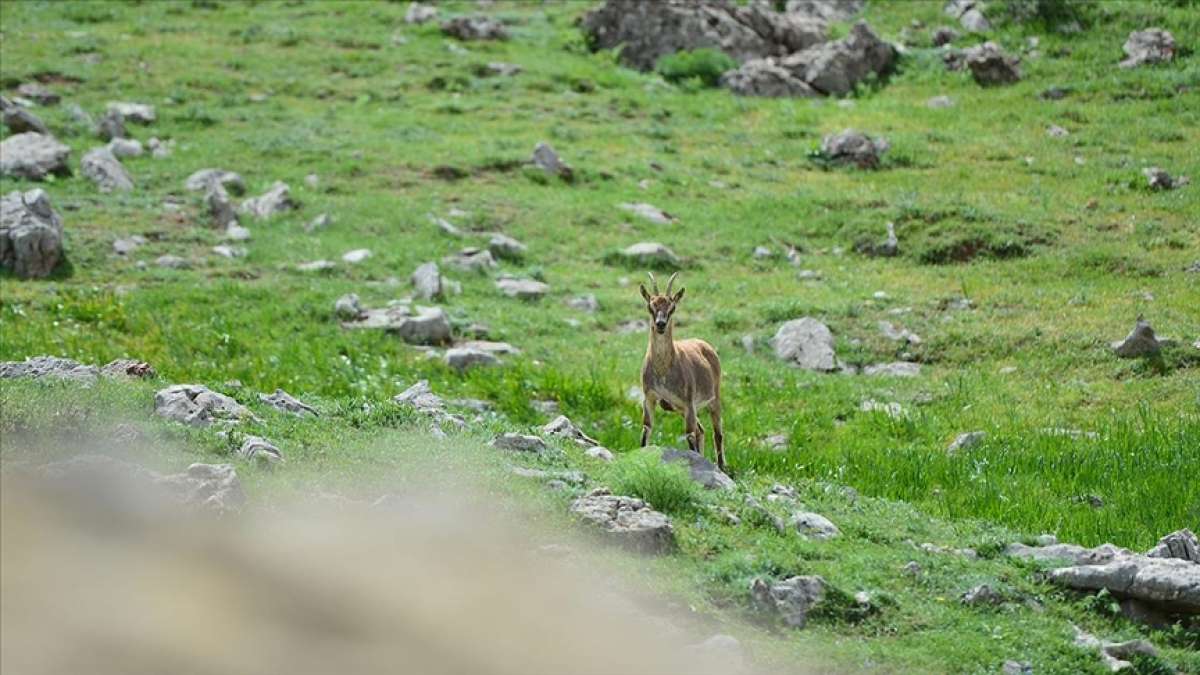
[[[608,466],[606,483],[618,495],[640,497],[665,513],[695,510],[703,500],[702,488],[679,464],[664,464],[658,448],[623,455]]]

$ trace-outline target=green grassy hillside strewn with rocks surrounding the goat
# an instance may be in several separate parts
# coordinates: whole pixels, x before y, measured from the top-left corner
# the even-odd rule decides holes
[[[533,404],[554,400],[623,455],[641,432],[629,389],[646,335],[618,327],[644,318],[636,285],[646,270],[614,264],[611,253],[661,241],[684,261],[677,336],[703,338],[721,356],[733,477],[758,491],[803,485],[806,500],[847,519],[854,533],[829,550],[684,518],[686,555],[664,563],[683,572],[668,578],[691,592],[715,587],[701,593],[714,611],[755,574],[800,573],[797,560],[847,587],[886,586],[902,609],[796,638],[852,667],[992,671],[1021,653],[1039,673],[1096,667],[1070,656],[1068,620],[1138,629],[1049,597],[1027,569],[935,562],[924,589],[901,583],[898,569],[913,556],[910,538],[995,552],[1006,539],[1052,532],[1142,549],[1200,522],[1200,488],[1183,479],[1200,473],[1200,350],[1192,345],[1200,339],[1200,274],[1186,271],[1200,261],[1200,186],[1153,192],[1141,175],[1160,166],[1200,179],[1200,12],[1188,2],[1093,4],[1084,7],[1084,31],[1061,34],[1006,20],[1002,5],[990,37],[1024,54],[1018,84],[984,89],[946,71],[929,47],[932,29],[952,23],[942,2],[872,2],[864,12],[871,26],[888,40],[907,35],[912,46],[886,83],[839,101],[738,98],[623,68],[613,54],[586,48],[575,28],[586,2],[497,4],[486,11],[512,32],[498,43],[457,43],[434,24],[407,25],[407,4],[0,4],[6,90],[38,78],[96,117],[109,101],[152,103],[157,123],[131,125],[132,135],[175,143],[169,157],[125,161],[136,183],[127,195],[101,195],[78,171],[44,185],[66,223],[68,263],[48,280],[0,277],[0,359],[133,357],[154,364],[162,382],[202,382],[246,404],[282,387],[325,416],[268,418],[251,430],[278,442],[287,474],[317,482],[391,461],[385,446],[343,434],[410,431],[413,420],[388,399],[420,378],[448,398],[492,401],[500,414],[473,431],[480,437],[544,423]],[[1117,68],[1128,32],[1150,25],[1171,30],[1181,56]],[[492,61],[522,72],[487,77]],[[1051,86],[1066,97],[1039,96]],[[941,95],[954,106],[930,108]],[[100,144],[66,104],[35,112],[71,145],[77,169]],[[1049,136],[1051,125],[1069,136]],[[880,169],[814,159],[824,135],[846,127],[890,141]],[[574,166],[574,183],[523,166],[542,141]],[[301,208],[244,221],[253,233],[248,255],[215,256],[221,233],[182,185],[204,167],[241,173],[250,195],[283,180]],[[2,193],[30,186],[0,179]],[[677,220],[650,225],[619,209],[624,202],[652,203]],[[322,213],[332,223],[306,232]],[[445,235],[431,214],[469,235]],[[889,221],[898,257],[856,252],[882,239]],[[485,323],[492,339],[523,351],[503,366],[460,375],[334,317],[340,295],[383,306],[410,293],[416,265],[486,243],[491,232],[529,247],[497,274],[541,279],[550,294],[520,301],[496,289],[494,274],[444,269],[462,294],[440,304],[461,328]],[[131,234],[150,241],[114,255],[113,240]],[[784,257],[784,243],[799,250],[798,265]],[[775,256],[755,258],[760,245]],[[372,257],[341,262],[360,247]],[[164,253],[193,264],[156,267]],[[295,269],[320,258],[337,267]],[[800,279],[799,269],[820,279]],[[598,312],[566,305],[581,293],[595,294]],[[1162,358],[1124,360],[1109,348],[1138,315],[1177,340]],[[922,374],[781,365],[768,340],[802,316],[830,327],[848,365],[907,352]],[[888,340],[881,321],[922,342]],[[227,384],[234,380],[240,388]],[[128,396],[126,414],[149,410],[150,389],[100,392]],[[104,396],[80,401],[8,382],[0,396],[10,438],[104,407]],[[899,402],[906,414],[864,412],[865,400]],[[982,444],[946,452],[976,430],[988,432]],[[678,444],[680,434],[678,417],[659,416],[658,443]],[[788,435],[786,448],[768,446],[778,434]],[[229,449],[205,431],[185,441],[194,452]],[[245,473],[265,494],[288,482]],[[830,483],[882,506],[822,496]],[[1014,603],[980,617],[955,602],[971,575],[1002,579],[1051,609]],[[1194,635],[1154,638],[1176,650],[1177,668],[1200,670],[1194,657],[1178,656]]]

